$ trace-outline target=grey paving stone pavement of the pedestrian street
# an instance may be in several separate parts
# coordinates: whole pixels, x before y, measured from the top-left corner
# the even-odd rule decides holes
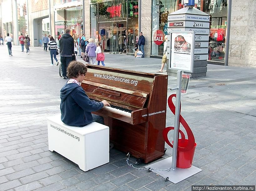
[[[1,191],[164,191],[191,190],[192,185],[255,185],[256,69],[209,64],[206,77],[191,79],[188,93],[182,94],[181,114],[197,142],[193,165],[202,172],[172,184],[128,166],[126,153],[115,149],[110,150],[110,163],[87,172],[49,151],[46,117],[59,113],[59,90],[66,80],[59,77],[56,63],[50,65],[49,52],[42,47],[31,47],[26,55],[13,46],[9,57],[7,47],[1,45],[0,52]],[[106,66],[114,68],[154,73],[161,65],[154,58],[107,53],[105,57]],[[176,79],[169,77],[168,96],[175,93],[172,87]],[[166,114],[166,127],[173,126],[168,107]],[[158,160],[172,155],[170,146],[166,148]],[[131,162],[135,160],[131,157]]]

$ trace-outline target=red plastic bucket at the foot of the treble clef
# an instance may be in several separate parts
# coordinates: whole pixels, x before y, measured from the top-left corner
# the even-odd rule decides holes
[[[188,140],[178,139],[178,149],[177,149],[177,164],[176,166],[181,169],[187,169],[192,166],[192,161],[195,153],[197,144],[195,143],[193,148],[188,151],[179,151],[179,147],[185,148],[188,144]]]

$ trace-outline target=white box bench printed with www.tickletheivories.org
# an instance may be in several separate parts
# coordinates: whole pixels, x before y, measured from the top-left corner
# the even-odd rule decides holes
[[[64,124],[60,115],[47,118],[50,151],[71,160],[83,171],[109,162],[109,127],[92,122],[85,127]]]

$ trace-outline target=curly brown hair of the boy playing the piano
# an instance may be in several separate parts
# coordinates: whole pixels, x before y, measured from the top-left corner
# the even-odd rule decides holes
[[[78,61],[71,61],[67,68],[68,78],[77,78],[79,74],[86,74],[87,66]]]

